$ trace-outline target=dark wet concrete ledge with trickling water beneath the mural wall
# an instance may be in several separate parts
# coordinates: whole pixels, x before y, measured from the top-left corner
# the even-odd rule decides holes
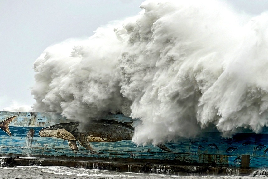
[[[1,157],[1,167],[3,166],[66,166],[87,169],[110,170],[118,172],[156,173],[170,175],[205,176],[205,175],[266,175],[266,172],[253,169],[228,168],[228,167],[201,167],[201,166],[181,166],[181,165],[161,165],[152,163],[97,161],[97,160],[68,160],[55,158],[31,158],[31,157]]]

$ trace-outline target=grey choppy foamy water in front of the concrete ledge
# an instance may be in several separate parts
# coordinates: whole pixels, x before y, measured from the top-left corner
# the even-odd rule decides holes
[[[175,176],[175,175],[160,175],[160,174],[144,174],[144,173],[129,173],[129,172],[114,172],[107,170],[71,168],[63,166],[20,166],[20,167],[0,167],[1,179],[20,179],[20,178],[91,178],[91,179],[187,179],[187,178],[223,178],[223,179],[258,179],[265,176],[257,177],[240,177],[240,176]],[[267,176],[266,176],[267,177]]]

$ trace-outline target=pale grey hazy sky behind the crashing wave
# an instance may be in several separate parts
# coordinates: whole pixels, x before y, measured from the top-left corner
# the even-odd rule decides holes
[[[251,15],[268,10],[267,0],[226,0]],[[143,0],[0,0],[0,111],[32,105],[34,61],[46,47],[86,38],[112,20],[137,15]]]

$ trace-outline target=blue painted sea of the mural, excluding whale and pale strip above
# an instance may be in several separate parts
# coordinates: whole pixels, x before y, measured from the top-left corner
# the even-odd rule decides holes
[[[43,127],[21,127],[10,126],[12,137],[0,130],[0,153],[2,156],[13,154],[16,156],[38,156],[47,155],[57,157],[66,155],[70,157],[106,157],[106,158],[133,158],[133,159],[178,159],[178,160],[200,160],[200,154],[212,154],[213,161],[220,164],[227,163],[232,167],[239,167],[241,155],[250,155],[251,167],[265,167],[268,162],[266,144],[268,134],[239,133],[232,139],[224,139],[219,132],[204,132],[191,139],[181,138],[176,142],[165,145],[175,153],[162,151],[153,145],[136,146],[131,140],[118,142],[91,142],[91,147],[96,153],[84,147],[79,147],[79,152],[74,152],[69,147],[68,141],[54,137],[40,137],[38,132]],[[27,136],[29,130],[33,129],[33,137]],[[259,150],[256,147],[260,146]],[[229,152],[228,148],[232,148]],[[198,155],[193,155],[198,154]],[[184,157],[187,156],[188,157]],[[223,156],[227,156],[228,160]],[[184,157],[184,158],[183,158]]]

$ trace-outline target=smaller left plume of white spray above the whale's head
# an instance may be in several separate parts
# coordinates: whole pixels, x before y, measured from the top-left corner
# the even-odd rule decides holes
[[[105,112],[125,112],[115,77],[120,45],[113,28],[106,27],[87,40],[48,47],[34,63],[34,108],[79,121]]]

